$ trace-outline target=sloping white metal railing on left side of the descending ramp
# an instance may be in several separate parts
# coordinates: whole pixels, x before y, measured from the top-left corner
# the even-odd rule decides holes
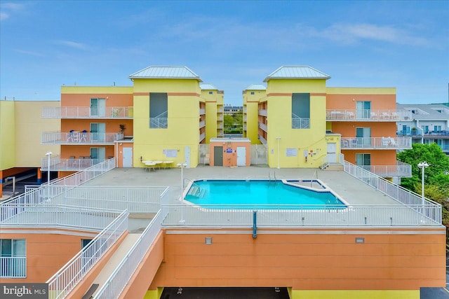
[[[102,258],[106,251],[128,230],[128,211],[123,211],[112,223],[105,225],[89,244],[76,254],[67,264],[48,279],[48,298],[65,298],[70,291]]]

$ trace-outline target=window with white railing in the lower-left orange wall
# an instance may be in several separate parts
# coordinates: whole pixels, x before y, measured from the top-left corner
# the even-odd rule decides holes
[[[27,276],[25,239],[0,239],[0,277]]]

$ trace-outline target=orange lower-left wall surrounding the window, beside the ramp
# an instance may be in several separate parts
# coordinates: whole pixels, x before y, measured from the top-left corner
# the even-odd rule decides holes
[[[8,229],[9,230],[9,229]],[[34,230],[29,228],[27,230]],[[47,231],[45,229],[36,229]],[[53,230],[53,229],[52,229]],[[51,232],[52,230],[48,230]],[[64,230],[58,230],[64,231]],[[67,233],[74,231],[66,230]],[[27,278],[1,279],[2,282],[45,282],[81,250],[81,239],[93,239],[92,232],[79,232],[85,236],[63,233],[1,233],[2,239],[27,240]]]

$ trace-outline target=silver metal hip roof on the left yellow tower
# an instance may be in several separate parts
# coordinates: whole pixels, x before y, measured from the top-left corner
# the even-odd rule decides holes
[[[199,82],[201,79],[188,67],[147,67],[134,74],[130,74],[130,79],[154,79],[154,78],[182,78],[182,79],[196,79]]]

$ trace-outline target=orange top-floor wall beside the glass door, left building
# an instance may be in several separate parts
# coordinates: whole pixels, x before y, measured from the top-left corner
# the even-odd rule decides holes
[[[106,99],[107,97],[107,99]],[[106,99],[107,107],[128,107],[133,106],[133,94],[107,94],[107,93],[88,93],[88,94],[67,94],[61,93],[62,107],[89,107],[91,99]]]

